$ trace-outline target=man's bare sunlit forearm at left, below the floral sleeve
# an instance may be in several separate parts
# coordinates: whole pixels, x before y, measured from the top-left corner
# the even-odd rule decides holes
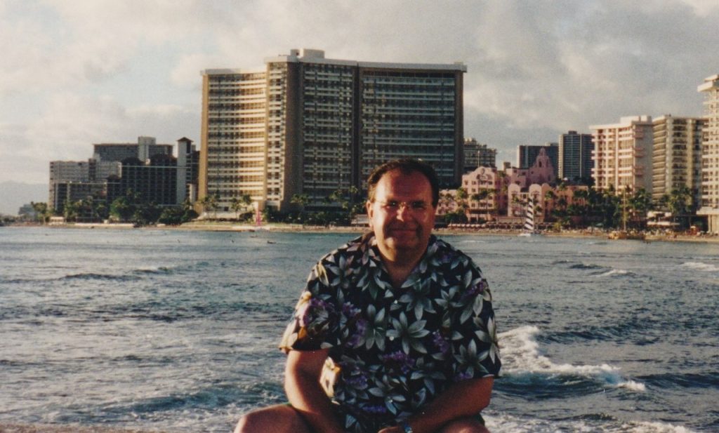
[[[285,366],[285,393],[315,432],[343,432],[331,402],[319,383],[329,349],[290,350]]]

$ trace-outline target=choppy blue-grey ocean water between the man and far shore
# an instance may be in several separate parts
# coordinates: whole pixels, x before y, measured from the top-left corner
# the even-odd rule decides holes
[[[232,431],[352,236],[0,228],[0,422]],[[493,432],[719,432],[717,244],[443,238],[493,290]]]

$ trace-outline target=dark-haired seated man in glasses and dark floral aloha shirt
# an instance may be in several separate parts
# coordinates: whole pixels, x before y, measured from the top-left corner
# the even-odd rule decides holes
[[[235,432],[487,432],[492,297],[472,260],[431,235],[434,169],[388,162],[367,183],[372,232],[314,267],[280,345],[290,405]]]

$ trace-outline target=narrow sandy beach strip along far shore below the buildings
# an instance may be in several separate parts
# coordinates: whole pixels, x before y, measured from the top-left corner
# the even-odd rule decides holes
[[[75,223],[75,224],[58,224],[58,225],[42,225],[42,224],[22,224],[22,225],[6,225],[7,228],[18,228],[18,227],[47,227],[47,228],[60,228],[60,229],[95,229],[100,230],[169,230],[169,231],[225,231],[225,232],[277,232],[277,233],[365,233],[368,229],[366,227],[324,227],[316,225],[300,225],[300,224],[282,224],[282,223],[270,223],[257,227],[250,224],[242,223],[186,223],[183,225],[147,225],[142,227],[134,227],[129,223]],[[518,236],[521,230],[513,229],[470,229],[470,228],[435,228],[434,233],[438,236],[441,235],[454,235],[454,236]],[[572,230],[562,232],[542,232],[541,235],[546,237],[557,237],[557,238],[597,238],[597,239],[608,239],[608,233],[603,231],[587,231],[587,230]],[[647,233],[644,240],[640,241],[644,243],[651,242],[692,242],[692,243],[719,243],[719,236],[691,236],[682,234],[651,234]],[[0,430],[0,433],[3,433]]]

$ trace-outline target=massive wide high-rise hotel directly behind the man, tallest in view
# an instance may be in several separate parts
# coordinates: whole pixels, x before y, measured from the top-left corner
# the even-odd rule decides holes
[[[291,50],[263,70],[204,70],[200,198],[249,194],[280,210],[306,194],[309,208],[377,165],[421,158],[443,186],[462,175],[462,64],[326,59]]]

